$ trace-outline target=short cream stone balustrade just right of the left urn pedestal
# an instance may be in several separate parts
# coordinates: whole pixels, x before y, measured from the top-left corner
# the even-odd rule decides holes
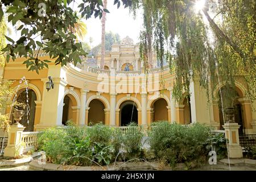
[[[30,151],[36,147],[37,144],[37,135],[40,132],[23,132],[22,133],[22,143],[24,143],[23,153]]]

